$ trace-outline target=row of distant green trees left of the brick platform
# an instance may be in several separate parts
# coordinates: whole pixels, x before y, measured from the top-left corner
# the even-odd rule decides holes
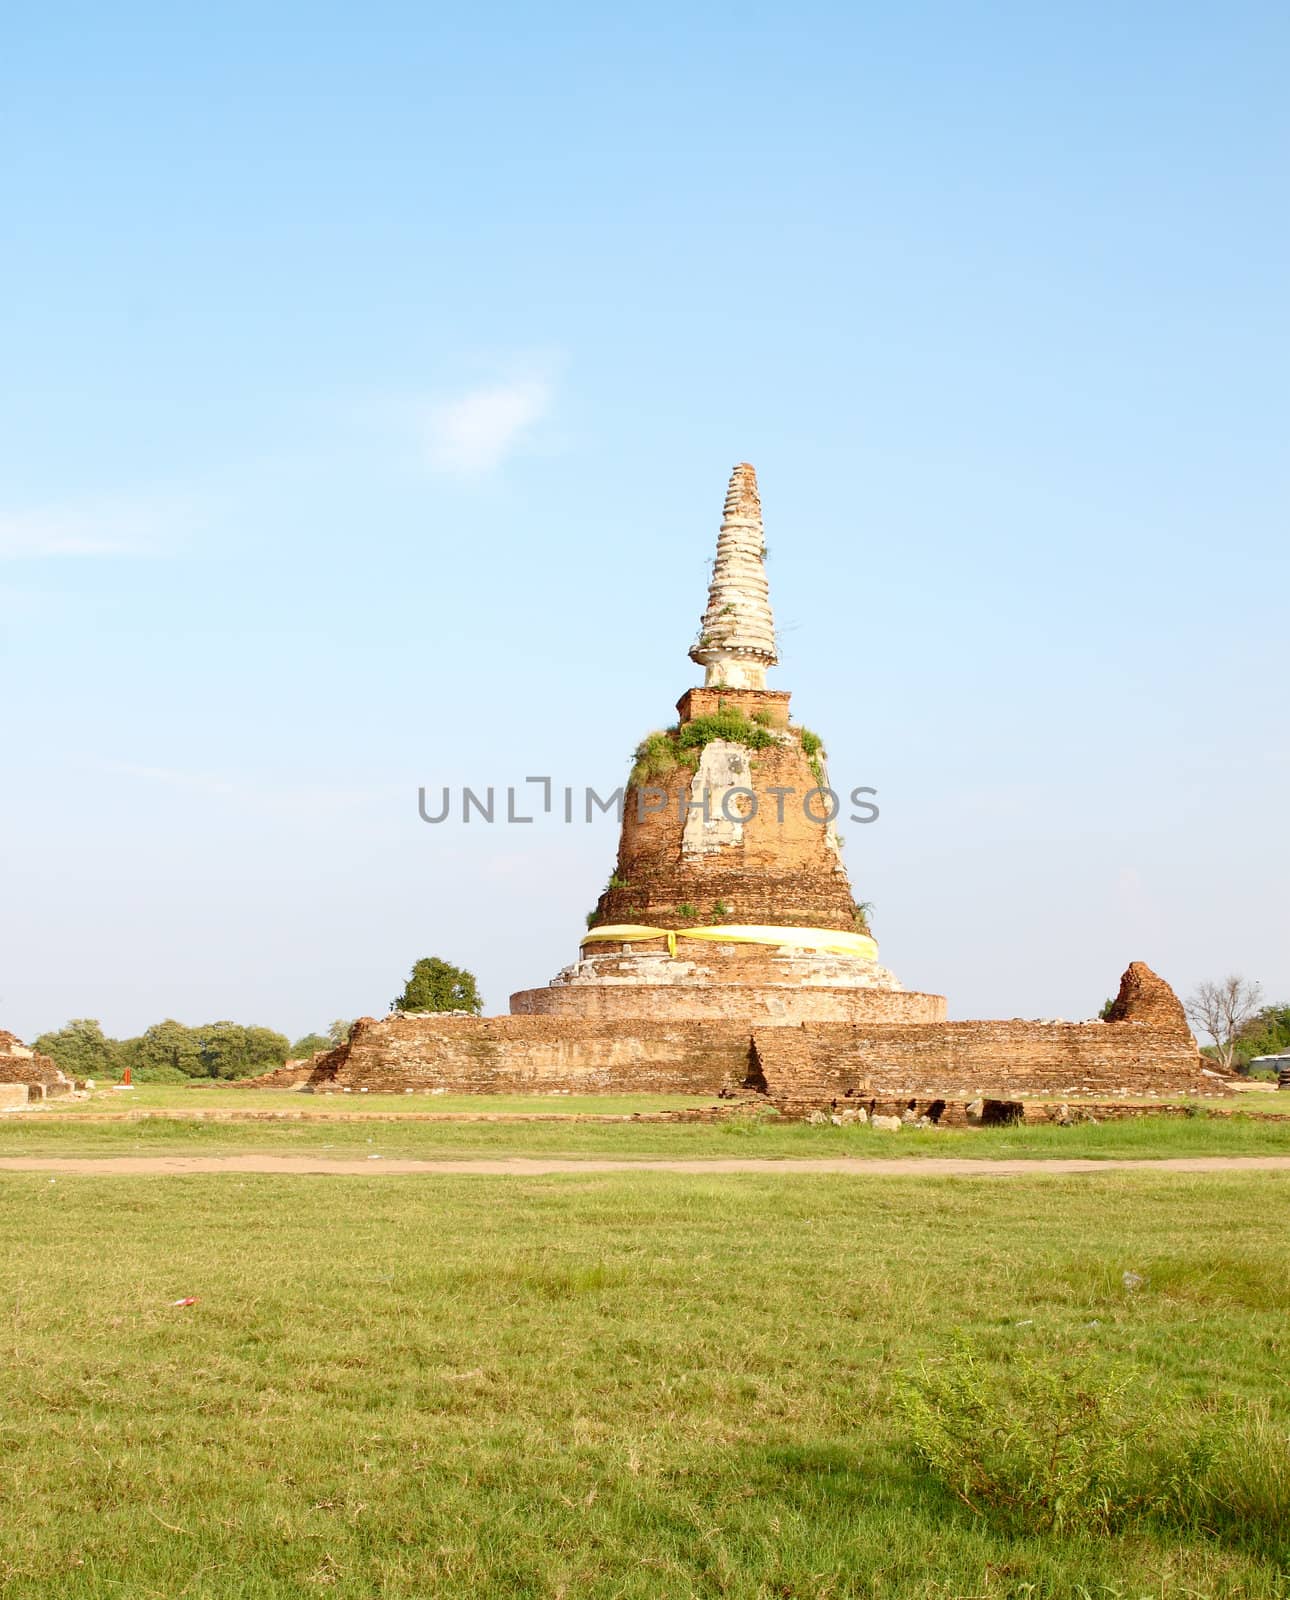
[[[187,1078],[251,1078],[288,1059],[331,1050],[349,1037],[349,1022],[333,1022],[325,1034],[306,1034],[294,1043],[272,1027],[242,1022],[205,1022],[187,1027],[165,1021],[138,1038],[109,1038],[94,1018],[77,1018],[54,1034],[42,1034],[35,1048],[51,1056],[70,1078],[136,1083],[182,1083]]]

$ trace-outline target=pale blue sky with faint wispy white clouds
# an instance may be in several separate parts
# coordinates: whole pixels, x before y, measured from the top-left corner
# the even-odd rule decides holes
[[[776,686],[883,960],[1290,998],[1280,6],[162,6],[0,48],[0,1026],[490,1010],[696,680]]]

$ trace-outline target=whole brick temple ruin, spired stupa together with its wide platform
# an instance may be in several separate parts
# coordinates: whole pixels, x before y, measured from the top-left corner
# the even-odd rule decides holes
[[[296,1074],[315,1091],[765,1094],[935,1107],[983,1096],[1213,1093],[1183,1008],[1135,962],[1108,1021],[951,1022],[879,962],[819,739],[776,664],[757,477],[730,478],[703,686],[650,734],[578,958],[498,1018],[363,1018]],[[272,1075],[277,1083],[283,1075]]]

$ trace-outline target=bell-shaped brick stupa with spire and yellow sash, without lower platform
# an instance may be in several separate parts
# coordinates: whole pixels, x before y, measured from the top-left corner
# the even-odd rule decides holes
[[[701,688],[642,741],[618,861],[579,958],[514,1014],[779,1022],[944,1018],[879,963],[851,896],[824,747],[767,688],[778,661],[757,474],[735,467],[707,608]]]

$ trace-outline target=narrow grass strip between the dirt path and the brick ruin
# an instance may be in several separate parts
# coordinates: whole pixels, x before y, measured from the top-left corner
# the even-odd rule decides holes
[[[186,1093],[186,1091],[179,1091]],[[253,1098],[251,1093],[246,1098]],[[267,1093],[254,1096],[269,1099]],[[367,1099],[368,1096],[365,1096]],[[283,1099],[291,1104],[298,1096]],[[346,1096],[349,1104],[351,1096]],[[136,1102],[138,1104],[138,1102]],[[277,1152],[335,1157],[811,1157],[952,1155],[972,1158],[1290,1155],[1290,1122],[1143,1117],[1071,1128],[973,1128],[875,1133],[775,1117],[723,1123],[214,1122],[94,1123],[69,1112],[0,1118],[3,1155],[218,1155]]]

